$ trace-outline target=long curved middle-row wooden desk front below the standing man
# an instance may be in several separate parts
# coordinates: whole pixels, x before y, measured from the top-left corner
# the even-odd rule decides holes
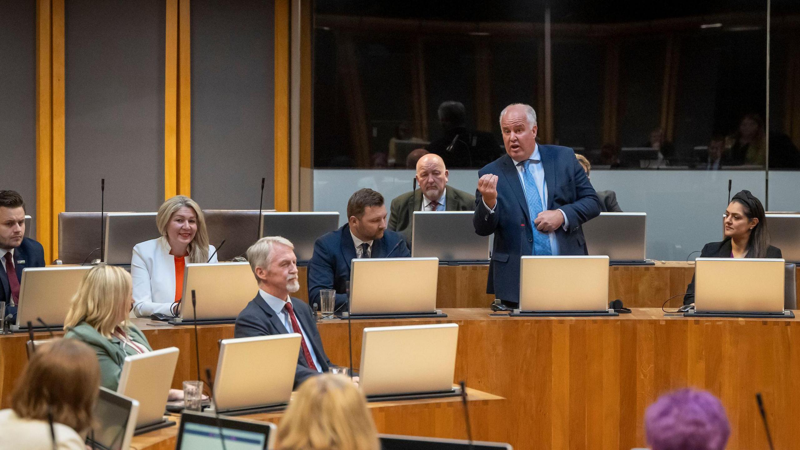
[[[473,416],[475,439],[523,449],[644,447],[646,407],[664,392],[692,386],[722,399],[732,429],[728,450],[766,448],[756,392],[764,396],[775,448],[797,448],[800,319],[685,319],[665,317],[660,309],[563,319],[496,317],[487,309],[445,312],[446,319],[354,320],[353,363],[360,364],[364,327],[458,323],[455,380],[506,398]],[[196,378],[190,327],[137,322],[154,348],[181,349],[176,388]],[[347,323],[320,323],[319,329],[330,359],[346,365]],[[233,325],[200,327],[201,369],[216,368],[217,341],[230,337]],[[26,340],[0,336],[4,408],[25,364]],[[464,436],[455,419],[440,423],[434,413],[419,414],[431,436]],[[390,430],[391,420],[386,416],[381,429]]]

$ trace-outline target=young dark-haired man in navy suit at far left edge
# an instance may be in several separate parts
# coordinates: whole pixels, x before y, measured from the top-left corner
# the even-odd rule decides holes
[[[0,302],[6,302],[6,315],[17,313],[25,267],[45,267],[45,251],[41,243],[25,237],[22,195],[0,191]]]

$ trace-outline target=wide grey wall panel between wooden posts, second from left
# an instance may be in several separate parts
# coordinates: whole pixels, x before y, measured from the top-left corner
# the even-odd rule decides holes
[[[164,0],[66,2],[66,211],[164,198]]]

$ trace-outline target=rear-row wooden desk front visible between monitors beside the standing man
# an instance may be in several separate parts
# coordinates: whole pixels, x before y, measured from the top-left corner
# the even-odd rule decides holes
[[[300,267],[298,298],[308,301],[306,268]],[[626,307],[661,307],[664,300],[686,292],[694,275],[694,262],[658,261],[654,266],[612,266],[609,271],[608,298],[621,299]],[[486,294],[488,265],[439,266],[437,307],[487,307],[494,295]],[[800,269],[798,269],[800,298]],[[682,297],[670,306],[682,304]]]

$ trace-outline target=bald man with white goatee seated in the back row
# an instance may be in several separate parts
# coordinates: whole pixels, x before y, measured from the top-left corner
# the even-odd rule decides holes
[[[442,157],[424,155],[417,162],[419,189],[392,200],[389,229],[402,234],[409,248],[414,211],[474,211],[475,196],[447,186],[448,175]]]

